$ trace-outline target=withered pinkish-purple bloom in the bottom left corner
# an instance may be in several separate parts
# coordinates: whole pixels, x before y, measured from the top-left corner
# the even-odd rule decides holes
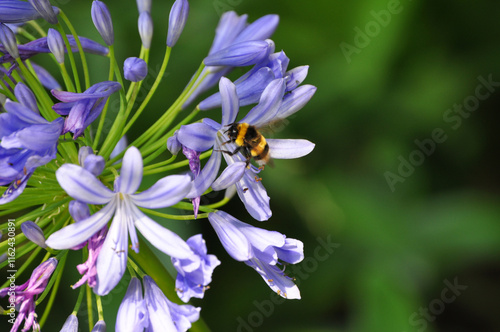
[[[31,273],[30,279],[24,284],[14,286],[13,289],[7,287],[0,290],[0,297],[9,295],[9,303],[14,303],[18,311],[11,331],[17,331],[23,319],[25,320],[23,331],[28,331],[30,329],[38,331],[40,329],[40,325],[38,325],[36,321],[36,297],[45,290],[45,287],[47,287],[47,283],[56,269],[56,266],[57,259],[51,257],[35,268]]]

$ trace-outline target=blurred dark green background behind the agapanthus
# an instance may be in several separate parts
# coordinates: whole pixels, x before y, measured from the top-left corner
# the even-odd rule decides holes
[[[150,71],[163,57],[172,2],[153,0]],[[90,1],[59,3],[81,35],[100,41]],[[137,56],[135,2],[106,3],[119,61]],[[500,331],[500,2],[190,4],[151,116],[132,137],[182,91],[222,11],[247,13],[249,21],[279,14],[277,50],[291,59],[289,68],[309,65],[305,83],[318,87],[275,136],[306,138],[315,150],[262,173],[273,217],[253,221],[238,199],[225,207],[304,242],[306,259],[287,269],[302,299],[277,301],[257,273],[225,253],[206,220],[191,222],[186,236],[201,230],[222,261],[205,298],[194,301],[211,329]],[[107,64],[92,59],[95,83]],[[201,116],[218,120],[220,113]]]

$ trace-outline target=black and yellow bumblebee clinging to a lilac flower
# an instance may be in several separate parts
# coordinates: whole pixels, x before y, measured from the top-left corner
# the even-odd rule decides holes
[[[229,141],[226,143],[234,143],[237,145],[237,148],[233,152],[223,152],[228,153],[231,156],[241,152],[241,154],[246,158],[247,166],[250,164],[250,160],[252,158],[260,166],[264,166],[266,164],[272,166],[271,158],[269,156],[269,144],[267,144],[266,139],[255,126],[244,122],[235,122],[229,125],[229,129],[226,130],[226,134],[229,137]]]

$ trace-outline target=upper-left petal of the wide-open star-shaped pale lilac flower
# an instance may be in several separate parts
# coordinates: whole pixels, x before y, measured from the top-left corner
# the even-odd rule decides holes
[[[62,165],[56,177],[68,195],[87,204],[106,204],[114,195],[92,173],[78,165]]]

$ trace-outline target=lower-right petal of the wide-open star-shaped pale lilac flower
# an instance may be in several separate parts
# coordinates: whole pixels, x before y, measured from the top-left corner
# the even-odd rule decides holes
[[[135,226],[141,234],[156,248],[165,254],[176,258],[188,258],[194,253],[181,237],[171,230],[150,219],[137,207],[132,206]]]

